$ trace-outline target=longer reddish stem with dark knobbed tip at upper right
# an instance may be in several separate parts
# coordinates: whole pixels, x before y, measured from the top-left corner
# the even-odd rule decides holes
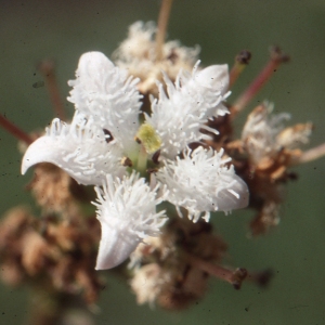
[[[239,112],[242,112],[247,104],[256,96],[256,94],[261,90],[261,88],[271,78],[277,67],[285,62],[289,61],[288,55],[281,53],[278,48],[272,49],[271,60],[257,76],[257,78],[248,86],[248,88],[242,93],[242,95],[236,100],[235,104],[231,107],[232,118],[234,118]]]

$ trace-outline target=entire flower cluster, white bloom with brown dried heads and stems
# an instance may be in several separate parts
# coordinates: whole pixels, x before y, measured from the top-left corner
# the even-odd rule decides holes
[[[38,312],[49,312],[55,324],[67,310],[62,297],[94,303],[103,288],[95,270],[128,257],[138,302],[169,310],[202,298],[209,276],[235,289],[245,278],[266,285],[270,270],[223,266],[227,245],[212,232],[211,213],[255,209],[250,232],[264,234],[280,221],[284,184],[296,178],[290,167],[325,154],[325,144],[302,152],[312,125],[285,128],[289,115],[273,115],[268,102],[235,132],[237,114],[289,57],[273,48],[260,75],[231,104],[230,89],[249,51],[236,56],[231,72],[226,64],[202,67],[198,47],[165,42],[170,3],[162,1],[158,27],[131,25],[114,63],[101,52],[81,55],[76,79],[68,81],[70,121],[56,107],[60,118],[39,136],[0,115],[24,142],[22,173],[34,167],[28,188],[41,207],[39,219],[16,208],[0,224],[0,275],[42,288],[44,301],[56,303]],[[42,69],[53,86],[53,66]]]

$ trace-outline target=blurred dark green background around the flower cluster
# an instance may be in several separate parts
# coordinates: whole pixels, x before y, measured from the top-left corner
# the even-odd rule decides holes
[[[42,129],[53,117],[36,64],[47,57],[57,63],[64,98],[81,53],[99,50],[107,56],[134,21],[156,21],[160,1],[0,1],[1,114],[26,131]],[[311,146],[325,140],[325,1],[324,0],[176,0],[169,39],[202,47],[203,65],[232,65],[239,50],[252,61],[230,100],[235,99],[268,60],[270,44],[280,44],[292,57],[253,100],[264,99],[276,112],[292,114],[292,122],[313,121]],[[73,106],[67,102],[67,112]],[[238,127],[246,114],[238,119]],[[20,174],[16,141],[0,130],[1,206],[3,213],[18,204],[31,204],[23,188],[31,172]],[[167,313],[138,307],[128,286],[115,277],[102,292],[96,324],[325,324],[325,158],[296,168],[298,182],[287,186],[280,226],[265,237],[247,238],[251,211],[219,213],[212,222],[230,244],[227,262],[275,270],[271,286],[261,290],[245,283],[240,291],[217,280],[204,300],[191,309]],[[1,286],[0,324],[22,324],[28,313],[27,290]]]

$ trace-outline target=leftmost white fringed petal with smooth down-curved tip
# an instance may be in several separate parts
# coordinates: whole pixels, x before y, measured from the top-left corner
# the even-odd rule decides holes
[[[65,170],[83,185],[102,184],[106,173],[122,176],[121,150],[109,141],[104,131],[91,119],[77,114],[73,125],[55,118],[46,135],[27,148],[22,162],[22,173],[35,164],[51,162]]]

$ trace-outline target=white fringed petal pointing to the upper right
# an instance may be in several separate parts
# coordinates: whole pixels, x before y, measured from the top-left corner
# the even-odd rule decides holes
[[[164,79],[168,96],[159,83],[159,101],[152,101],[153,113],[145,118],[161,139],[161,155],[174,158],[188,143],[210,139],[199,129],[218,134],[205,123],[212,116],[229,113],[221,103],[229,87],[227,65],[212,65],[200,72],[196,65],[192,75],[180,72],[174,84],[166,75]]]

